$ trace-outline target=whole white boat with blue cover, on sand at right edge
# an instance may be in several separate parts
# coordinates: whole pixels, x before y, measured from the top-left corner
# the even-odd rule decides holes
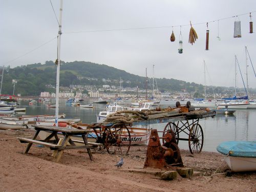
[[[227,141],[218,145],[217,151],[233,172],[256,170],[256,141]]]

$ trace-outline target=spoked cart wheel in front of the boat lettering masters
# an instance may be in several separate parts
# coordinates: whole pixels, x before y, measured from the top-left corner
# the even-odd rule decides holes
[[[112,125],[105,138],[106,151],[109,154],[126,155],[131,146],[131,135],[129,129],[122,123]]]

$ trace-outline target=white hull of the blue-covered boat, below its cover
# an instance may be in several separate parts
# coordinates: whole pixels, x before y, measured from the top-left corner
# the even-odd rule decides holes
[[[256,170],[255,157],[225,156],[225,161],[233,172],[247,172]]]

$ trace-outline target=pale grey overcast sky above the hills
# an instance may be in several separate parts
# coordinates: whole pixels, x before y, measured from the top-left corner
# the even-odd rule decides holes
[[[52,5],[59,19],[60,1],[52,0]],[[64,0],[60,58],[105,64],[140,76],[145,76],[147,68],[148,77],[153,76],[155,65],[156,78],[201,84],[205,60],[207,86],[232,87],[235,54],[246,81],[245,46],[256,70],[256,36],[249,33],[250,17],[245,14],[251,12],[255,32],[255,11],[254,0]],[[58,23],[49,0],[0,0],[0,14],[0,66],[14,68],[56,59]],[[236,15],[240,16],[232,17]],[[190,20],[198,34],[194,45],[188,43]],[[241,21],[242,38],[233,38],[235,20]],[[182,39],[180,27],[172,26],[182,26]],[[172,30],[174,42],[169,40]],[[182,54],[178,53],[179,40],[183,41]],[[256,88],[249,59],[247,64],[249,87]],[[237,86],[243,87],[239,71]]]

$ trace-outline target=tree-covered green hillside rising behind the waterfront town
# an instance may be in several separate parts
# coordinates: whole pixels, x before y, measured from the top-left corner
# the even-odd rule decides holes
[[[0,72],[2,74],[2,71]],[[102,84],[110,84],[110,86],[120,86],[120,77],[122,79],[122,87],[139,87],[145,89],[146,79],[138,75],[127,73],[106,65],[86,61],[63,62],[60,67],[61,87],[70,87],[71,84],[80,84],[83,86],[96,86],[102,88]],[[22,96],[38,96],[40,92],[55,92],[56,85],[56,65],[53,61],[46,61],[45,64],[34,63],[26,66],[15,68],[5,68],[2,84],[2,94],[12,94],[13,84],[12,79],[15,79],[14,94],[20,93]],[[109,82],[104,82],[102,79],[108,79]],[[153,79],[149,79],[152,82]],[[203,93],[204,86],[194,82],[186,82],[177,79],[155,78],[159,91],[171,92],[189,92]],[[219,93],[227,92],[233,88],[215,87]],[[207,87],[209,92],[212,88]],[[61,91],[61,90],[60,90]],[[255,90],[250,90],[255,93]],[[217,93],[217,91],[215,91]]]

